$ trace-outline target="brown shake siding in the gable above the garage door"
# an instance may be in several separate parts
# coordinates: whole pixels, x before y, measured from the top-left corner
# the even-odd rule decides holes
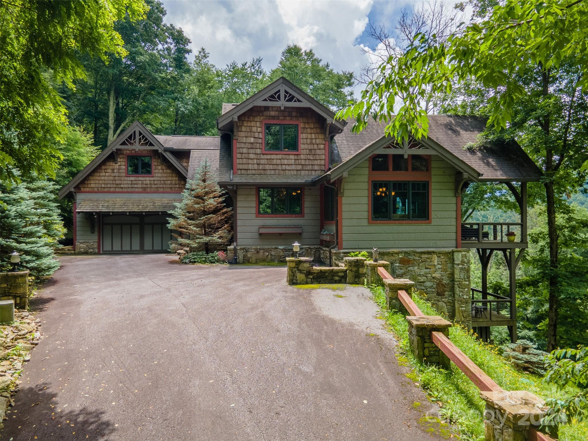
[[[168,159],[159,156],[153,150],[119,149],[118,162],[114,155],[109,155],[101,164],[76,186],[76,192],[170,192],[180,193],[186,186],[186,180]],[[151,156],[152,176],[126,176],[126,154]],[[180,153],[178,157],[183,165],[188,165],[189,156]]]

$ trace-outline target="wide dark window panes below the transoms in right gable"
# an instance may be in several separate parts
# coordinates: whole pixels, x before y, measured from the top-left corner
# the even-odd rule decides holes
[[[372,220],[429,220],[429,182],[372,181]]]

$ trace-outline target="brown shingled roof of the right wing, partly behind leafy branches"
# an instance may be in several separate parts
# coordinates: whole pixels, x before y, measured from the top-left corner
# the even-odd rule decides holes
[[[524,179],[538,180],[542,172],[514,141],[489,143],[465,148],[478,142],[477,136],[486,128],[486,120],[476,116],[427,115],[429,138],[439,143],[487,180]],[[366,145],[381,138],[386,123],[370,121],[360,133],[352,133],[352,121],[345,131],[335,136],[331,143],[332,166],[345,161]]]

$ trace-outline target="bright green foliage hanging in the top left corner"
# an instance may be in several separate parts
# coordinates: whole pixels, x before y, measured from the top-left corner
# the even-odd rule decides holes
[[[73,88],[85,78],[80,54],[122,57],[114,23],[139,18],[142,0],[3,2],[0,8],[0,181],[22,176],[54,176],[55,148],[66,123],[54,85]]]

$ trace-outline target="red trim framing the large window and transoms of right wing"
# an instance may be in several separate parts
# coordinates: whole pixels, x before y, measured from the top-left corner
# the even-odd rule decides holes
[[[418,153],[415,153],[418,155]],[[372,171],[372,158],[376,155],[372,155],[369,158],[369,173],[368,173],[368,223],[370,224],[417,224],[417,223],[432,223],[433,222],[433,185],[431,179],[431,156],[420,155],[427,159],[427,172],[413,172],[412,162],[408,161],[407,172],[380,172]],[[410,155],[409,155],[410,156]],[[410,158],[409,158],[410,159]],[[388,168],[392,170],[392,155],[388,155]],[[373,181],[422,181],[429,183],[429,219],[427,220],[373,220],[372,219],[372,182]]]

